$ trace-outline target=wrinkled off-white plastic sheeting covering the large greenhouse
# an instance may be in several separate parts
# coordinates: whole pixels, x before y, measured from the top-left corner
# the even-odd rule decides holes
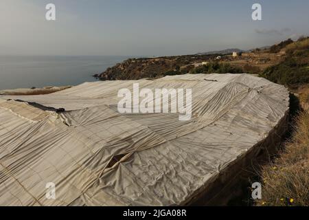
[[[133,83],[192,88],[192,119],[118,113],[117,92]],[[48,95],[0,96],[0,205],[182,204],[264,140],[288,102],[286,88],[248,74],[104,81]],[[56,199],[45,197],[49,182]]]

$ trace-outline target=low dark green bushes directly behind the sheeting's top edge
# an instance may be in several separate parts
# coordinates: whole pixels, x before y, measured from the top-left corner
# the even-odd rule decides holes
[[[201,65],[190,71],[190,74],[242,74],[240,67],[234,67],[229,63],[211,62],[207,65]]]

